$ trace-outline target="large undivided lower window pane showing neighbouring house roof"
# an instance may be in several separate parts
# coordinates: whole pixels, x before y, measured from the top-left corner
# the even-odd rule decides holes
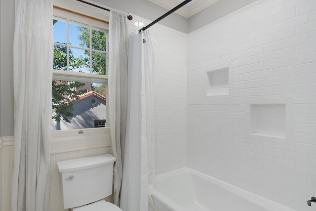
[[[52,130],[104,127],[106,84],[53,80]]]

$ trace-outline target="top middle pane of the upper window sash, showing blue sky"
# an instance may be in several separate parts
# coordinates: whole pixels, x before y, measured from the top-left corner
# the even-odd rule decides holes
[[[70,45],[90,48],[90,30],[88,25],[75,21],[69,21],[68,31]]]

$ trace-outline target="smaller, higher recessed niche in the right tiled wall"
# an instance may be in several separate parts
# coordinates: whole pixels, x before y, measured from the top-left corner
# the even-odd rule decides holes
[[[207,68],[207,96],[229,95],[232,87],[232,64]]]

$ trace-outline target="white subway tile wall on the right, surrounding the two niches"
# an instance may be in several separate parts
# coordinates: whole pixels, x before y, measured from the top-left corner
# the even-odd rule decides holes
[[[230,94],[207,96],[206,72],[230,65]],[[316,194],[315,67],[315,0],[258,0],[190,33],[187,165],[298,211],[315,209],[306,205]],[[284,137],[251,134],[255,104],[268,116],[267,104],[281,105],[280,121],[268,121]]]

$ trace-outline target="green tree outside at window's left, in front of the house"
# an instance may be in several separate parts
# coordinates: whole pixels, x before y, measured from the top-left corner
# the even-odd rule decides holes
[[[72,51],[69,51],[69,64],[72,68],[86,66],[86,59],[75,57]],[[53,68],[57,70],[67,70],[67,47],[54,45],[54,64]],[[70,123],[69,118],[73,117],[74,107],[71,100],[78,99],[80,94],[86,90],[80,90],[84,83],[53,80],[52,83],[52,119],[57,122],[65,121]]]

